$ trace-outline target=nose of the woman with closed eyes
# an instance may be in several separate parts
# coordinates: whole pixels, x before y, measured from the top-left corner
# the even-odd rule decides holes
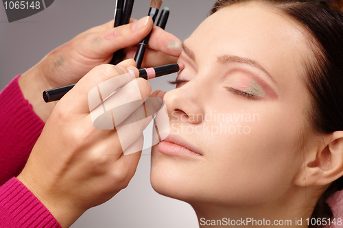
[[[191,82],[167,92],[163,99],[169,120],[174,123],[201,123],[204,119],[204,109],[200,97],[199,89],[191,85]]]

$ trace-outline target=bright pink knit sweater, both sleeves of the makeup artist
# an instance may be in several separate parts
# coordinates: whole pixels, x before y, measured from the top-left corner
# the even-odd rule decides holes
[[[58,221],[15,177],[44,127],[24,99],[17,76],[0,93],[0,227],[54,227]]]

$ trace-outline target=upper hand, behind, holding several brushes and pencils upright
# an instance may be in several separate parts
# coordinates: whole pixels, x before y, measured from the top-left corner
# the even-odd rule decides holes
[[[45,122],[56,102],[45,103],[42,92],[50,88],[76,83],[95,66],[109,63],[113,53],[132,47],[127,56],[133,58],[132,49],[152,29],[152,18],[146,16],[128,25],[113,28],[113,21],[93,27],[75,36],[51,51],[43,60],[19,78],[19,86],[34,112]],[[144,67],[175,63],[182,51],[178,38],[161,28],[154,27],[146,51]]]

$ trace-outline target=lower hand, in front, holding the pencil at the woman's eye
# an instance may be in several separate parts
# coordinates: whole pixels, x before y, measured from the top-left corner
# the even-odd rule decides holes
[[[130,125],[128,136],[119,142],[119,130],[93,127],[88,107],[88,92],[92,88],[128,73],[130,66],[136,66],[134,60],[126,60],[117,66],[97,66],[86,74],[58,102],[23,172],[17,177],[62,227],[69,227],[88,208],[108,201],[126,188],[135,173],[141,156],[139,150],[143,147],[143,129],[150,121],[146,125],[145,122],[134,125],[134,130]],[[137,68],[131,67],[130,70],[134,71],[135,77],[139,76]],[[130,77],[130,80],[137,81],[141,97],[163,97],[164,92],[159,90],[150,95],[151,87],[147,80],[134,79],[133,75]],[[132,92],[132,88],[124,91]],[[120,100],[130,100],[130,95]],[[133,144],[138,148],[134,151],[139,152],[123,155],[123,150],[128,150],[122,149],[123,140],[130,140],[128,149]]]

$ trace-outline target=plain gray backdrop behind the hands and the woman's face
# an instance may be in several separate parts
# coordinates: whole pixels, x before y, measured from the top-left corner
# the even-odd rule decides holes
[[[166,30],[185,40],[206,18],[215,0],[165,0],[171,8]],[[91,27],[110,21],[115,0],[55,0],[46,10],[21,21],[8,23],[0,5],[0,90],[16,75],[34,66],[49,51]],[[147,14],[149,0],[136,0],[132,17]],[[165,81],[175,75],[150,81],[153,90],[173,88]],[[78,227],[198,227],[187,203],[163,197],[150,186],[150,151],[141,161],[128,188],[113,199],[88,210],[73,226]]]

